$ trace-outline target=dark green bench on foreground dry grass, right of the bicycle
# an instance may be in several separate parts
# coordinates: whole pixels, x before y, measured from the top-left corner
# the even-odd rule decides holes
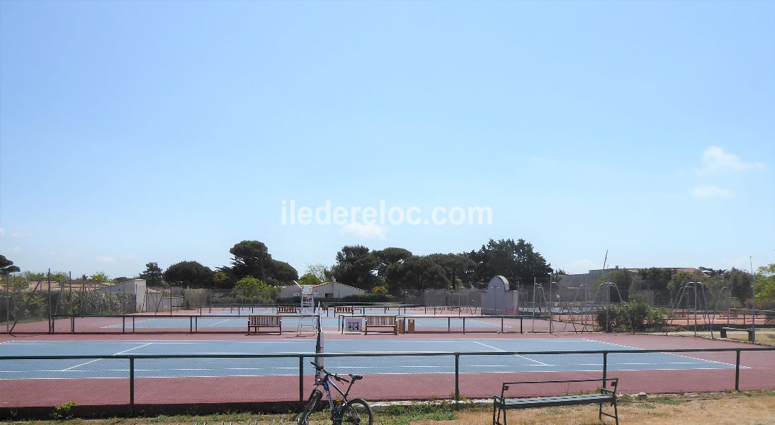
[[[601,379],[568,379],[565,381],[522,381],[522,382],[504,382],[501,386],[501,396],[493,396],[492,405],[492,423],[493,425],[507,425],[506,423],[506,410],[509,409],[529,409],[532,407],[549,407],[549,406],[570,406],[577,404],[597,404],[598,419],[603,420],[603,416],[608,416],[616,420],[616,425],[619,423],[618,410],[616,408],[616,385],[618,385],[618,378],[608,378],[602,380],[603,382],[611,382],[611,388],[603,385],[599,393],[592,394],[577,394],[574,396],[551,396],[551,397],[524,397],[524,398],[509,398],[506,396],[506,391],[511,385],[518,384],[565,384],[568,382],[601,382]],[[603,404],[611,403],[614,407],[614,414],[603,412]],[[503,422],[501,423],[501,415],[503,416]]]

